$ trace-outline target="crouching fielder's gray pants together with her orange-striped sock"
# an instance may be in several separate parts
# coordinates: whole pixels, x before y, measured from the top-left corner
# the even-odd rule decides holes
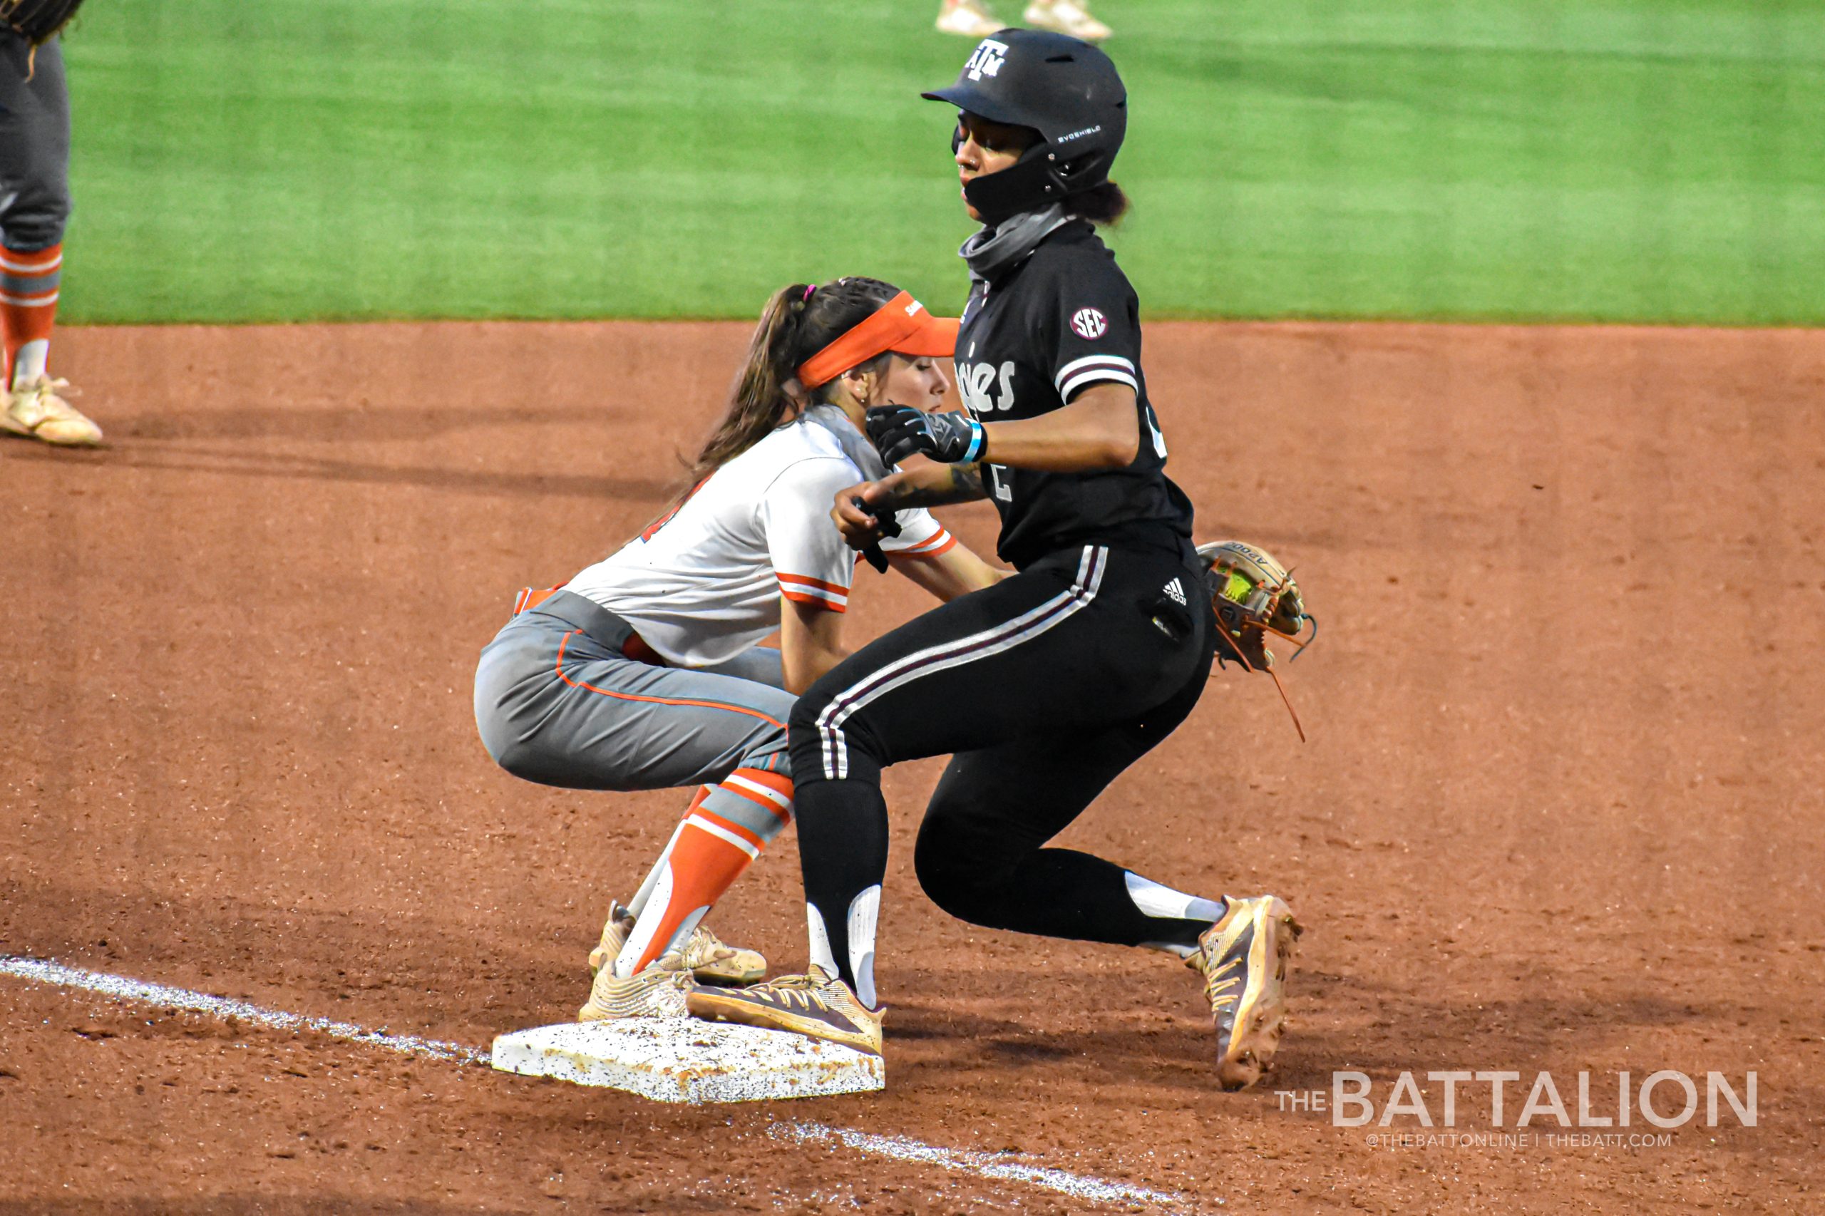
[[[489,756],[542,785],[646,791],[697,785],[630,902],[639,922],[615,970],[639,971],[697,926],[792,822],[779,663],[752,652],[712,670],[620,654],[626,624],[560,592],[482,650],[474,718]],[[648,915],[648,911],[652,915]]]

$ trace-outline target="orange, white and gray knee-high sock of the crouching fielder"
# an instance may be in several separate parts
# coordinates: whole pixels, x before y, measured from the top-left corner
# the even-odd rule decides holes
[[[681,946],[710,906],[761,849],[792,822],[792,778],[765,769],[735,769],[703,785],[684,811],[652,875],[628,907],[633,933],[615,957],[615,975],[641,968]]]

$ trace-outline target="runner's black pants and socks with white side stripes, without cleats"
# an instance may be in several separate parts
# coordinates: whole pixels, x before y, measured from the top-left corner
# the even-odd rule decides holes
[[[1044,844],[1184,721],[1214,646],[1210,597],[1190,553],[1086,546],[909,621],[838,665],[790,718],[812,960],[834,962],[874,1001],[887,873],[880,772],[947,752],[954,758],[914,854],[934,904],[1046,937],[1195,940],[1208,920],[1150,917],[1121,865]]]

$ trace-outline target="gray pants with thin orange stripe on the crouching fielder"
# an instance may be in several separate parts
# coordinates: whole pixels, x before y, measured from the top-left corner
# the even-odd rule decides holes
[[[777,650],[756,646],[715,668],[653,666],[622,654],[631,634],[571,592],[504,624],[474,672],[474,723],[495,763],[564,789],[715,785],[735,769],[790,778],[796,697],[781,687]],[[777,831],[765,809],[730,803],[741,820],[759,816],[763,840]]]

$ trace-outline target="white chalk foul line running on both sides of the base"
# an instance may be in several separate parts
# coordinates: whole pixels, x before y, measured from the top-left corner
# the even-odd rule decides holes
[[[182,1010],[186,1013],[203,1013],[208,1017],[237,1019],[268,1030],[292,1033],[308,1030],[343,1043],[361,1043],[420,1059],[484,1066],[489,1063],[489,1052],[465,1046],[462,1043],[422,1039],[418,1035],[392,1035],[381,1030],[367,1030],[365,1026],[356,1026],[354,1022],[338,1022],[328,1017],[308,1017],[305,1013],[268,1010],[250,1001],[212,997],[210,993],[192,991],[188,988],[151,984],[148,980],[128,979],[124,975],[110,975],[108,971],[88,971],[84,968],[71,968],[47,959],[0,955],[0,975],[11,975],[35,984],[51,984],[55,988],[80,988],[113,1001],[151,1004],[166,1010]],[[996,1156],[989,1152],[940,1148],[936,1145],[927,1145],[903,1136],[876,1136],[872,1132],[858,1132],[852,1128],[830,1127],[827,1123],[774,1123],[768,1128],[768,1136],[776,1139],[792,1139],[796,1143],[834,1139],[845,1148],[854,1148],[863,1156],[931,1165],[942,1170],[975,1174],[993,1181],[1026,1183],[1029,1187],[1038,1187],[1055,1194],[1068,1194],[1090,1203],[1148,1203],[1173,1212],[1195,1212],[1199,1203],[1192,1196],[1173,1190],[1152,1190],[1148,1187],[1104,1181],[1088,1174],[1071,1174],[1069,1170],[1022,1165],[1018,1161],[1009,1161],[1006,1154]],[[1212,1201],[1219,1205],[1223,1203],[1223,1200]]]

